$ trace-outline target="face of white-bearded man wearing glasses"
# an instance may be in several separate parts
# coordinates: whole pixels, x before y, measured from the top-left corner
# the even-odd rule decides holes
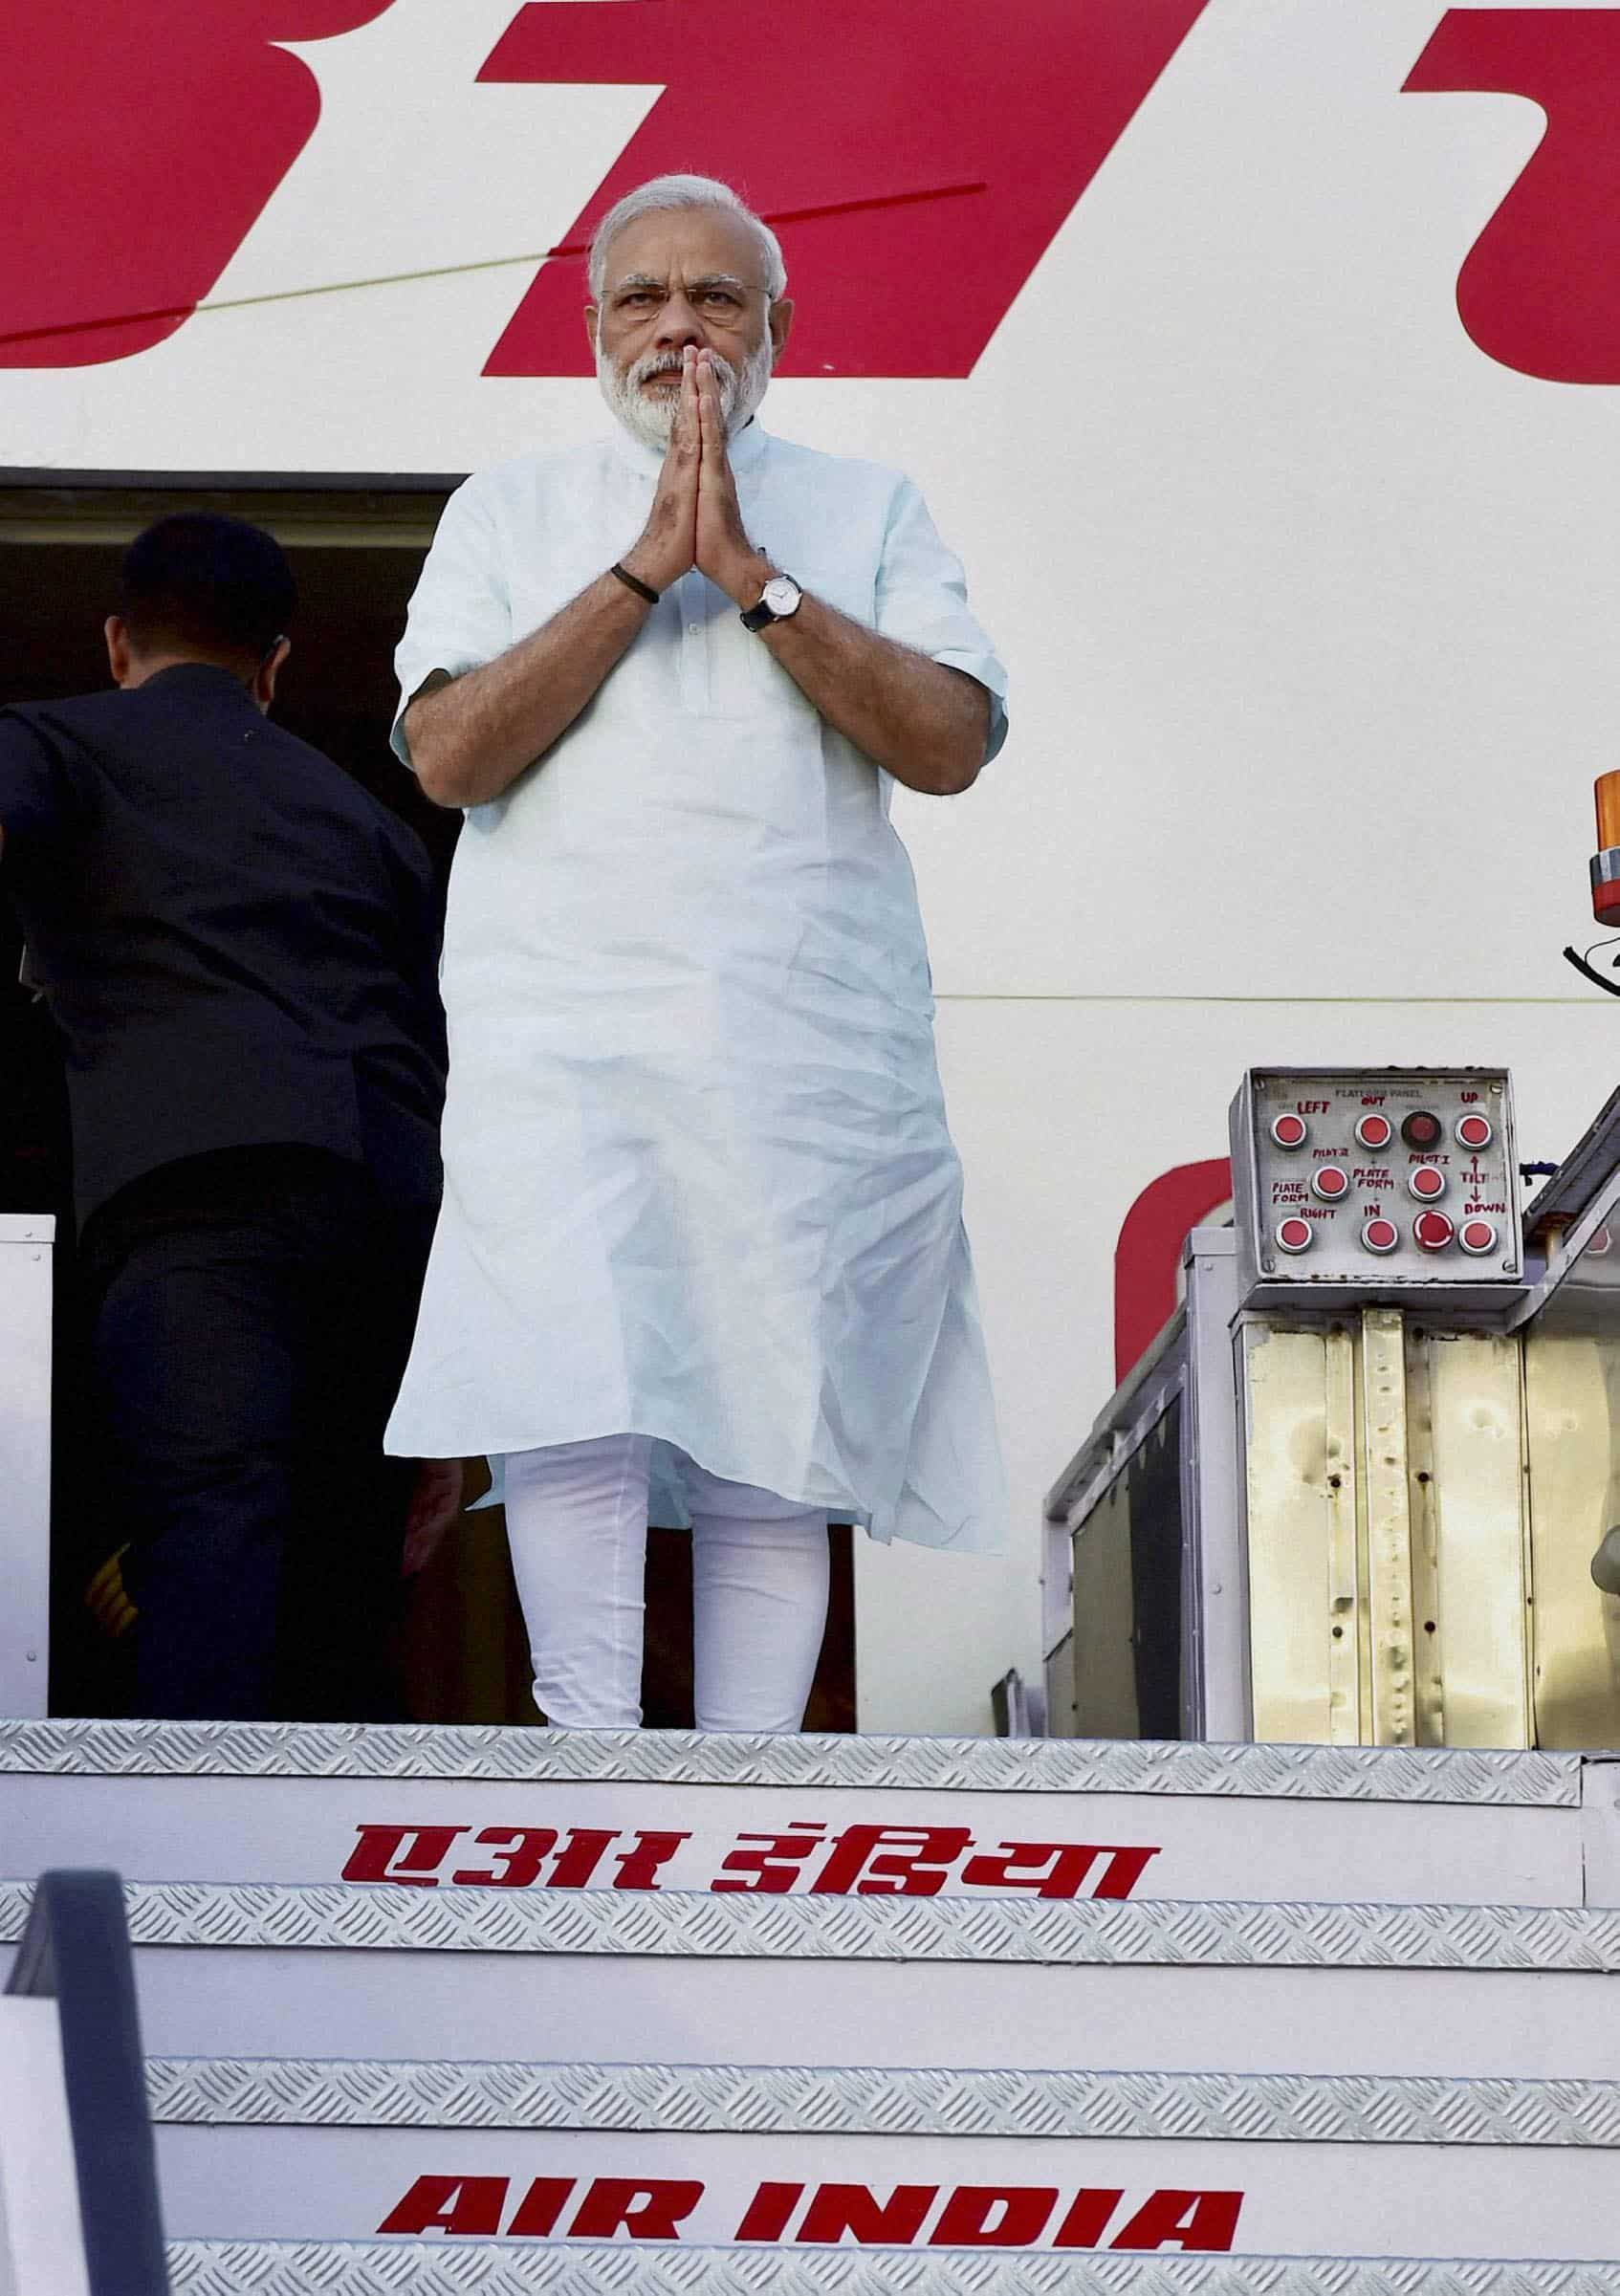
[[[682,351],[714,351],[721,413],[741,429],[764,397],[792,321],[771,303],[764,253],[737,216],[679,207],[638,216],[608,241],[601,303],[585,312],[597,379],[613,413],[665,445],[682,390]]]

